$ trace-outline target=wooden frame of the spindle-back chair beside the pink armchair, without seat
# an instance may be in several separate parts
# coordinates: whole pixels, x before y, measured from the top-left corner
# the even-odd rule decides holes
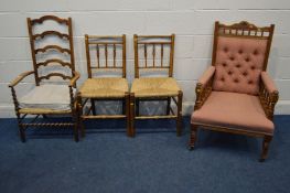
[[[153,41],[142,41],[146,39],[150,39]],[[160,41],[160,40],[163,41]],[[174,42],[175,42],[175,34],[171,35],[133,35],[133,47],[135,47],[135,78],[140,77],[140,71],[142,69],[168,69],[168,76],[172,77],[173,75],[173,63],[174,63]],[[146,65],[140,66],[139,64],[139,45],[142,45],[144,47],[144,60]],[[148,52],[147,46],[152,45],[152,60],[153,64],[152,66],[148,65]],[[160,53],[160,65],[155,65],[155,45],[161,46],[161,53]],[[163,64],[163,46],[170,45],[170,61],[169,66],[165,66]],[[155,97],[137,97],[135,93],[130,93],[130,130],[131,130],[131,137],[135,137],[136,135],[136,128],[135,128],[135,121],[136,120],[142,120],[142,119],[175,119],[176,120],[176,136],[181,136],[182,133],[182,97],[183,93],[182,90],[179,90],[176,96],[155,96]],[[139,114],[139,104],[140,101],[149,101],[149,100],[165,100],[167,101],[167,115],[160,115],[160,116],[141,116]],[[174,101],[176,105],[176,112],[171,108],[171,100]]]

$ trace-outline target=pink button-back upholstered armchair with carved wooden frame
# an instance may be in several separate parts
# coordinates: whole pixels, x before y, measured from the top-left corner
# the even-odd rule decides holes
[[[196,84],[190,149],[197,127],[264,138],[260,161],[273,136],[278,90],[266,72],[275,25],[215,23],[212,66]]]

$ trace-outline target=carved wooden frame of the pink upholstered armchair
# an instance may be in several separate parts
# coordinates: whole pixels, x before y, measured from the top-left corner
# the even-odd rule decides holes
[[[214,31],[212,66],[215,66],[218,36],[264,39],[264,40],[268,40],[265,61],[264,61],[264,67],[262,67],[262,71],[265,72],[267,69],[268,57],[269,57],[271,41],[272,41],[272,35],[273,35],[273,29],[275,29],[273,24],[271,24],[270,26],[259,28],[246,21],[241,21],[239,23],[235,23],[232,25],[221,24],[219,22],[216,21],[215,31]],[[196,88],[195,88],[196,100],[195,100],[194,110],[200,109],[203,106],[203,104],[206,101],[207,97],[211,95],[213,77],[214,75],[211,77],[211,79],[205,85],[202,85],[200,83],[196,84]],[[278,101],[278,98],[279,98],[279,93],[278,92],[269,93],[266,89],[264,82],[260,81],[259,99],[260,99],[260,103],[262,105],[266,116],[270,120],[272,120],[273,118],[275,105]],[[191,137],[190,137],[190,143],[189,143],[190,150],[194,149],[198,127],[203,129],[207,129],[207,130],[213,130],[213,131],[229,132],[234,135],[245,135],[249,137],[264,138],[260,161],[264,161],[267,158],[269,143],[272,139],[272,135],[265,133],[265,132],[241,130],[241,129],[230,128],[230,127],[218,127],[214,125],[204,125],[204,124],[198,124],[198,125],[192,124],[191,125]]]

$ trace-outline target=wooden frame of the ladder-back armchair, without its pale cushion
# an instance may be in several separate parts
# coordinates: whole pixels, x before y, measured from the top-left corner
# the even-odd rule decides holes
[[[9,87],[12,92],[12,98],[14,103],[15,115],[18,118],[19,125],[19,132],[22,142],[25,142],[25,129],[28,127],[73,127],[74,128],[74,139],[78,141],[78,115],[76,109],[76,99],[74,97],[73,88],[76,87],[76,81],[79,78],[79,73],[75,72],[75,60],[74,60],[74,46],[73,46],[73,32],[72,32],[72,19],[61,19],[55,15],[44,15],[40,19],[30,19],[28,18],[28,29],[29,29],[29,36],[30,36],[30,45],[31,45],[31,55],[33,62],[34,71],[25,72],[20,74],[13,82],[9,84]],[[68,34],[63,34],[57,31],[44,31],[41,34],[33,33],[33,25],[34,24],[42,24],[44,21],[54,21],[58,24],[65,24],[68,29]],[[58,45],[46,45],[43,49],[35,49],[35,41],[39,39],[45,39],[47,35],[58,36],[60,39],[66,39],[69,45],[69,49],[63,49]],[[60,53],[67,53],[71,55],[71,62],[63,62],[58,58],[47,60],[45,62],[37,62],[36,55],[39,52],[46,52],[49,50],[55,50]],[[58,63],[62,66],[68,66],[72,69],[72,76],[66,76],[62,73],[50,73],[44,76],[39,75],[39,67],[46,66],[51,63]],[[35,85],[40,86],[40,83],[43,79],[49,79],[52,76],[58,76],[63,79],[69,79],[68,88],[69,88],[69,97],[71,97],[71,109],[69,110],[39,110],[33,108],[20,108],[19,100],[17,97],[15,86],[26,76],[34,75]],[[24,122],[26,115],[35,115],[35,118],[31,122]],[[46,118],[47,115],[65,115],[72,117],[72,122],[35,122],[35,120],[43,116]]]

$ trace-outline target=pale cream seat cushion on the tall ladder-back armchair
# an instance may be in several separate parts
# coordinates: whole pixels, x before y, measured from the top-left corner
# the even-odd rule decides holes
[[[75,93],[75,92],[74,92]],[[41,85],[34,87],[19,99],[20,108],[36,111],[55,111],[71,109],[69,88],[67,85]],[[25,111],[25,112],[26,112]]]

